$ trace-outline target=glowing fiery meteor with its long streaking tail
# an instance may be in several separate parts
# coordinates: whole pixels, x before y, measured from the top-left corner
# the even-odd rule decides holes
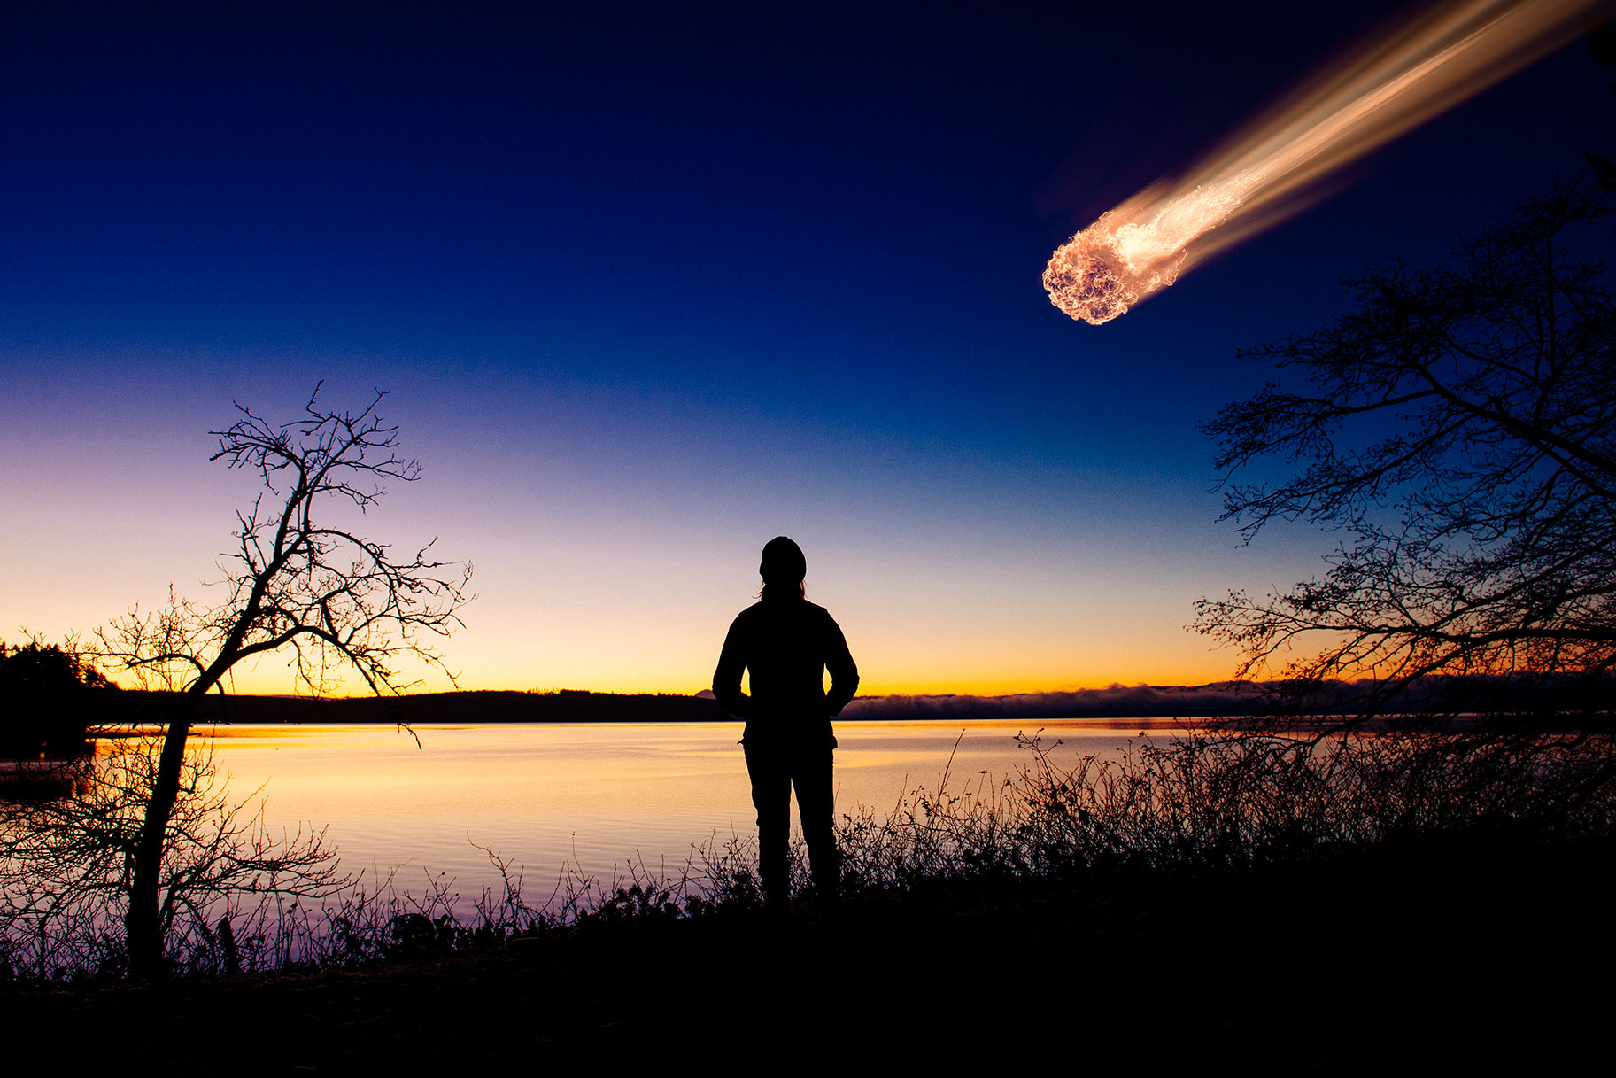
[[[1110,322],[1299,208],[1309,184],[1559,47],[1593,3],[1451,0],[1398,26],[1183,179],[1100,213],[1049,259],[1049,301],[1091,325]]]

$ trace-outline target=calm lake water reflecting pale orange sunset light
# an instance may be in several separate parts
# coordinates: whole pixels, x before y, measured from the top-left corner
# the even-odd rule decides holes
[[[1016,734],[1054,758],[1120,753],[1151,719],[844,722],[837,726],[835,808],[884,815],[916,785],[997,787],[1031,761]],[[430,878],[473,897],[496,878],[483,850],[522,866],[530,899],[566,866],[600,884],[630,858],[677,874],[695,844],[756,831],[740,753],[742,724],[229,726],[202,731],[234,797],[263,790],[271,834],[326,827],[343,868],[396,870],[420,892]],[[952,758],[952,763],[950,763]],[[795,805],[792,808],[795,821]]]

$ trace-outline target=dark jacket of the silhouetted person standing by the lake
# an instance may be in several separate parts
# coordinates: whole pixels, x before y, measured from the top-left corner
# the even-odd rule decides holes
[[[740,672],[751,674],[751,695]],[[831,692],[824,671],[831,671]],[[840,714],[858,692],[858,666],[840,627],[823,606],[797,596],[753,603],[740,611],[713,671],[713,695],[753,726],[789,727]]]

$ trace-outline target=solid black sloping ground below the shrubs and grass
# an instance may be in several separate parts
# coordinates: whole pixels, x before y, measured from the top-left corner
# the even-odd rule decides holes
[[[16,1075],[1608,1073],[1613,855],[1469,842],[939,886],[832,916],[591,924],[347,973],[0,987],[0,1028]]]

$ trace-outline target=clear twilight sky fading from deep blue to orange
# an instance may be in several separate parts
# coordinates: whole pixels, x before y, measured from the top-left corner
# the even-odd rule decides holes
[[[475,564],[472,688],[693,692],[772,535],[868,692],[1204,682],[1235,356],[1613,147],[1580,44],[1104,325],[1039,286],[1393,5],[11,3],[0,637],[207,598],[231,402],[389,391],[370,533]],[[239,687],[289,692],[278,661]]]

